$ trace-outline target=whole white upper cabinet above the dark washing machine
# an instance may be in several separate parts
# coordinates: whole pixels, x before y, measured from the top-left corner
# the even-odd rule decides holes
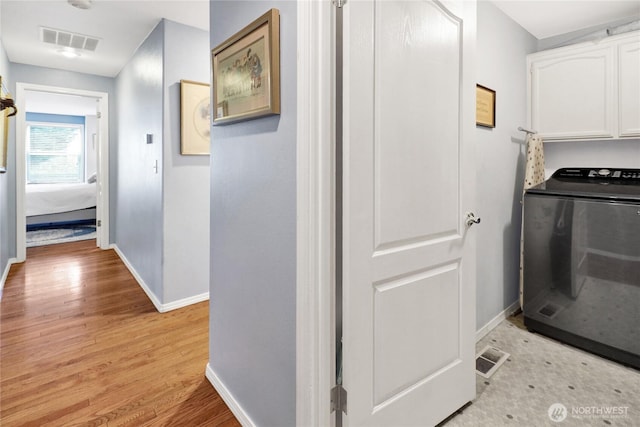
[[[528,125],[547,140],[640,136],[640,32],[527,57]]]

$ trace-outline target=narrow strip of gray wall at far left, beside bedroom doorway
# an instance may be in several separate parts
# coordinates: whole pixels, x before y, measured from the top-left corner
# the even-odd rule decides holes
[[[2,84],[9,89],[13,86],[11,80],[9,59],[0,40],[0,76]],[[9,121],[10,137],[9,146],[13,147],[15,141],[15,119]],[[0,135],[0,137],[2,137]],[[1,143],[1,142],[0,142]],[[0,149],[1,146],[0,146]],[[0,278],[4,274],[9,258],[15,256],[16,247],[16,212],[15,212],[15,165],[9,159],[15,157],[13,149],[7,152],[7,173],[0,174]]]

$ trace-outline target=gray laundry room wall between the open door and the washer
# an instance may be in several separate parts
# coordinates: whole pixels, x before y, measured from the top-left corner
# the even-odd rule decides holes
[[[527,124],[526,55],[537,39],[491,2],[478,2],[477,79],[496,91],[496,127],[476,129],[478,227],[476,328],[518,299]]]

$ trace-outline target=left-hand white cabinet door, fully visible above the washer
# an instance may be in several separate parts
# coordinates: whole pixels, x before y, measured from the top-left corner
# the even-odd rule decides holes
[[[614,136],[613,49],[581,49],[531,63],[531,126],[545,139]]]

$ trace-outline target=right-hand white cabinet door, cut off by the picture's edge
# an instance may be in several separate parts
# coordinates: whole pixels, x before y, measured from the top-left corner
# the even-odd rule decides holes
[[[620,136],[640,136],[640,40],[618,47]]]

